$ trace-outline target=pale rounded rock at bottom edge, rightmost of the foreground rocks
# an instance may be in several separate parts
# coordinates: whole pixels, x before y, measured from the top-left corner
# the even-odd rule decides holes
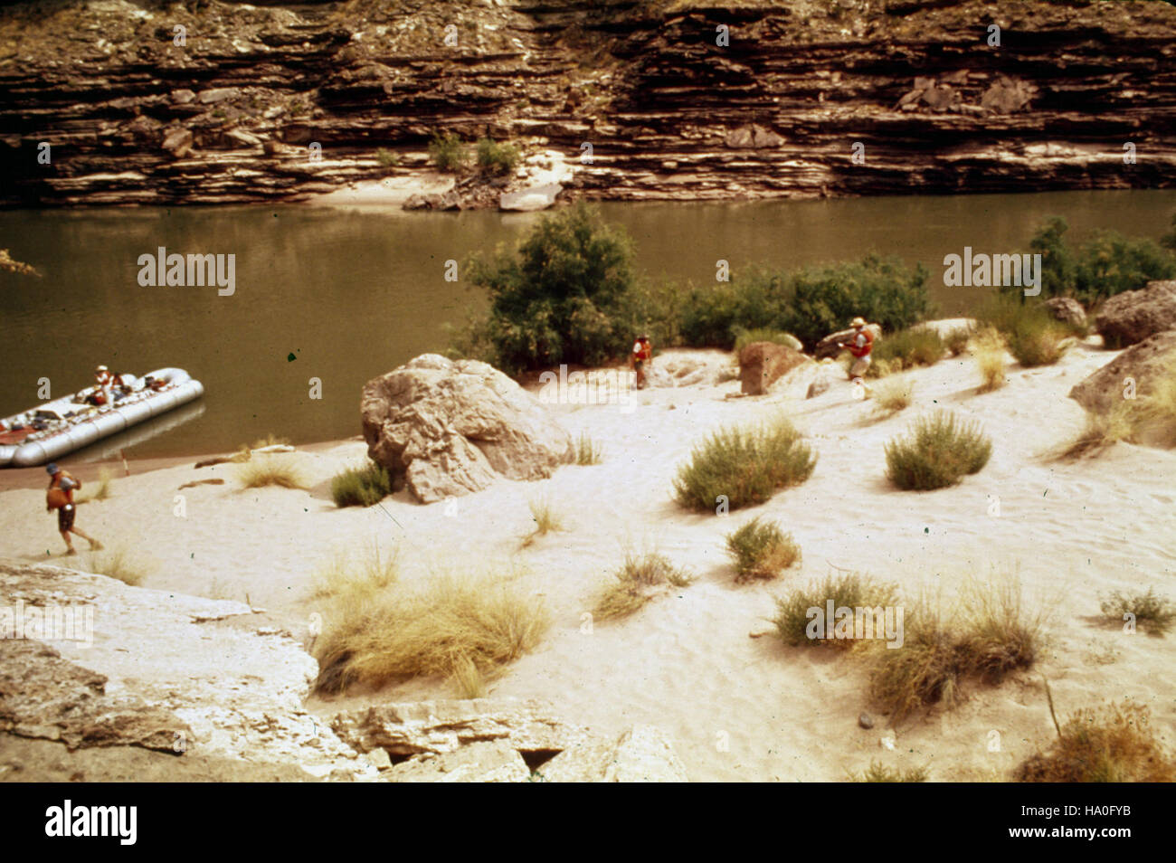
[[[536,770],[546,782],[687,782],[669,736],[634,725],[615,741],[566,749]]]

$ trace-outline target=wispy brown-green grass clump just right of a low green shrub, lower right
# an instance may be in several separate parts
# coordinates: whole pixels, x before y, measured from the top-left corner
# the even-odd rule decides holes
[[[1016,582],[969,582],[958,602],[922,598],[904,615],[900,649],[878,647],[870,669],[870,694],[900,722],[911,711],[963,698],[968,678],[1001,683],[1036,661],[1044,617],[1029,614]]]

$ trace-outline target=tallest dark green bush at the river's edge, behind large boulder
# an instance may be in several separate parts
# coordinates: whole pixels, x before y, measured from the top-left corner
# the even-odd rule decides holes
[[[468,343],[507,372],[623,354],[639,328],[632,262],[629,239],[584,205],[543,216],[514,253],[470,262],[490,308]]]

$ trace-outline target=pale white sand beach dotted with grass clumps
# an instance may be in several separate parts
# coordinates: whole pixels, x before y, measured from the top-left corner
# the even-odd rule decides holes
[[[299,635],[321,610],[309,598],[313,570],[338,549],[372,542],[397,549],[409,581],[450,567],[521,567],[529,573],[524,583],[552,607],[555,625],[536,653],[492,684],[490,695],[549,700],[568,720],[601,732],[660,725],[676,740],[693,780],[838,781],[873,758],[928,765],[938,781],[998,778],[1053,735],[1040,673],[1062,715],[1131,696],[1149,704],[1161,732],[1176,740],[1171,636],[1127,635],[1094,617],[1109,590],[1154,586],[1176,597],[1176,454],[1120,444],[1077,463],[1041,457],[1083,424],[1081,408],[1065,397],[1070,387],[1114,356],[1082,346],[1057,366],[1010,364],[1009,384],[984,395],[975,393],[969,357],[944,360],[915,373],[910,408],[878,422],[870,420],[873,403],[854,400],[848,382],[809,401],[728,400],[739,392],[731,381],[646,390],[632,413],[615,404],[557,406],[573,436],[587,432],[603,446],[603,463],[568,466],[543,482],[501,481],[448,504],[419,506],[401,493],[381,507],[336,510],[328,479],[363,459],[359,440],[298,456],[315,480],[309,493],[240,490],[235,466],[195,470],[186,462],[118,479],[114,496],[81,507],[78,523],[108,546],[149,550],[159,566],[145,587],[248,595],[286,615]],[[980,420],[994,441],[991,461],[951,489],[893,489],[883,476],[884,443],[936,407]],[[674,503],[673,477],[694,443],[711,429],[781,409],[818,453],[807,483],[727,517]],[[213,476],[228,482],[178,491]],[[174,514],[176,494],[186,496],[186,517]],[[42,495],[0,493],[0,556],[44,561],[46,549],[60,554]],[[1000,497],[998,517],[989,515],[990,495]],[[528,502],[540,497],[563,515],[568,530],[520,551],[532,526]],[[756,514],[794,534],[803,564],[774,583],[736,586],[723,536]],[[582,615],[626,547],[656,548],[697,581],[584,634]],[[85,553],[76,560],[83,567]],[[880,745],[884,717],[871,710],[875,728],[857,727],[857,715],[869,710],[860,663],[829,649],[784,648],[770,635],[748,637],[770,628],[764,618],[774,595],[828,575],[831,566],[897,582],[908,598],[921,586],[950,591],[969,574],[1016,574],[1030,607],[1053,609],[1048,649],[1034,670],[1000,688],[974,688],[955,710],[907,721],[891,751]],[[443,681],[413,681],[313,707],[453,696]]]

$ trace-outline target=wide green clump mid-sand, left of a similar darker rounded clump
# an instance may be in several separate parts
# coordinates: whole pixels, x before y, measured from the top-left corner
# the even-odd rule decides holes
[[[721,496],[729,509],[763,503],[813,474],[816,456],[783,416],[759,427],[716,432],[694,448],[674,480],[677,502],[711,510]]]

